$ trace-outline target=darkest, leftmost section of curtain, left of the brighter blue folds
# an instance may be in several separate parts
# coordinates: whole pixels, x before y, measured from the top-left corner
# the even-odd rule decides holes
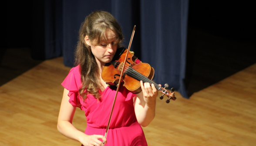
[[[62,0],[33,0],[32,50],[34,59],[45,60],[62,55]]]

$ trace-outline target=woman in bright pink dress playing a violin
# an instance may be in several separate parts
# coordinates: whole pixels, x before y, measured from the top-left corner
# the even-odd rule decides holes
[[[155,117],[158,91],[154,84],[142,81],[142,92],[138,94],[120,86],[108,137],[104,137],[116,90],[102,80],[101,72],[122,40],[121,27],[108,12],[95,11],[81,25],[75,52],[76,67],[61,84],[64,94],[57,129],[84,146],[147,146],[141,126],[148,126]],[[85,112],[84,133],[72,125],[76,107]]]

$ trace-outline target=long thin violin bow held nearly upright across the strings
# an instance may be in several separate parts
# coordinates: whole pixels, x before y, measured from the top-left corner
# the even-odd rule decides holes
[[[125,56],[125,60],[127,60],[127,56],[128,56],[129,51],[130,51],[131,42],[132,42],[132,39],[133,39],[133,36],[134,36],[134,33],[135,33],[135,29],[136,29],[136,26],[133,27],[133,31],[132,31],[132,34],[131,34],[131,40],[130,40],[130,43],[129,43],[129,46],[128,46],[128,50],[127,50],[127,53],[126,53],[126,56]],[[105,136],[104,136],[105,138],[107,138],[109,125],[110,125],[111,117],[112,117],[114,106],[115,106],[115,100],[116,100],[116,97],[117,97],[117,94],[118,94],[119,85],[121,83],[121,78],[122,78],[122,74],[124,73],[124,70],[125,70],[125,67],[123,67],[123,69],[121,71],[121,76],[120,76],[120,79],[119,79],[119,82],[118,82],[118,85],[117,85],[118,87],[117,87],[117,90],[116,90],[116,93],[115,93],[115,99],[114,99],[114,102],[113,102],[113,105],[112,105],[112,109],[111,109],[110,116],[109,116],[109,119],[108,119],[108,125],[107,125],[107,128],[106,128],[106,133],[105,133]]]

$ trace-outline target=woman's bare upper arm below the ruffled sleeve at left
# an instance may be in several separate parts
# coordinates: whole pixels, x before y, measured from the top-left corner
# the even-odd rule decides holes
[[[68,121],[72,123],[74,113],[76,110],[76,106],[73,106],[69,103],[69,96],[67,94],[69,91],[64,88],[64,93],[61,101],[61,108],[60,108],[60,113],[58,117],[58,123],[61,121]]]

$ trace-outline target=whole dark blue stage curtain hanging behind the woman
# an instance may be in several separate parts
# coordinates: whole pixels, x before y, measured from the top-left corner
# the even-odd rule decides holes
[[[188,6],[189,0],[45,0],[44,58],[57,57],[61,52],[64,64],[74,66],[81,23],[94,10],[105,10],[121,24],[126,48],[136,25],[131,50],[155,69],[153,80],[168,83],[188,98],[184,83]]]

